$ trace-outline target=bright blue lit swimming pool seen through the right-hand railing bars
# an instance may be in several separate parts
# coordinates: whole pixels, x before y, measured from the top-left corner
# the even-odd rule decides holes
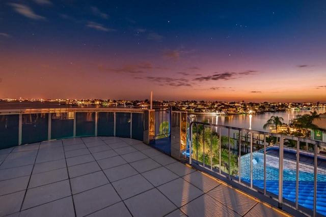
[[[283,198],[295,203],[296,161],[283,159]],[[241,156],[241,180],[250,183],[250,153]],[[300,163],[298,204],[313,209],[313,166]],[[279,157],[266,154],[266,191],[279,194]],[[264,154],[253,152],[253,184],[264,189]],[[326,215],[326,169],[317,169],[316,211]]]

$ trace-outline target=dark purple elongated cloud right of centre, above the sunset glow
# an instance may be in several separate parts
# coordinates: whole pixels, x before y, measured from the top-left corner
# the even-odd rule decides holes
[[[242,76],[248,76],[248,75],[254,75],[258,71],[255,70],[247,70],[244,72],[224,72],[224,73],[215,73],[213,75],[208,75],[208,76],[200,76],[195,78],[195,81],[218,81],[218,80],[231,80],[231,79],[237,79]]]

